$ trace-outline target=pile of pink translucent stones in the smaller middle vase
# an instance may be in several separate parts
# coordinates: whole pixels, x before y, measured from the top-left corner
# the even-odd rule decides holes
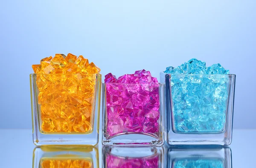
[[[120,134],[159,136],[159,85],[144,69],[118,79],[105,75],[107,134],[110,139]]]

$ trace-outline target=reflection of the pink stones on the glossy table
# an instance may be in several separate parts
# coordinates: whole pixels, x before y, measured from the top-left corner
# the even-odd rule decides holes
[[[158,168],[159,155],[151,157],[118,157],[107,154],[108,168]]]

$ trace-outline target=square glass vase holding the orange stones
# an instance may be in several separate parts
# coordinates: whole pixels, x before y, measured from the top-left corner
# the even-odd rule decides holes
[[[97,145],[101,74],[30,74],[35,145]]]

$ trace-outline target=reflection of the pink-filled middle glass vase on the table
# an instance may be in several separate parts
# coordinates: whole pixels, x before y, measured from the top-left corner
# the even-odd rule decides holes
[[[163,168],[162,146],[124,147],[104,145],[102,168]]]

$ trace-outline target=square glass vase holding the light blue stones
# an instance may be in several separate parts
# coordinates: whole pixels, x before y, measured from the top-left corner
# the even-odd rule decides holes
[[[235,74],[165,74],[166,142],[230,145]]]

